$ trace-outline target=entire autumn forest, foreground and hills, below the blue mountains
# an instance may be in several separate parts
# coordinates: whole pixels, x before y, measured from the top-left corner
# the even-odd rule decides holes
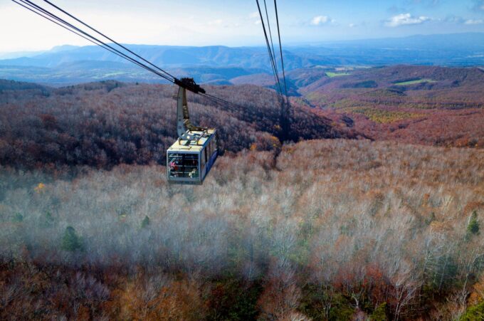
[[[203,186],[167,184],[174,86],[0,80],[0,319],[479,320],[483,74],[292,70],[288,132],[204,85],[242,107],[189,95]]]

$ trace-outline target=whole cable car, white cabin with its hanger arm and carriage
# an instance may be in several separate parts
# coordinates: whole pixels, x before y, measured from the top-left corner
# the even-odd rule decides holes
[[[167,179],[171,184],[204,182],[219,154],[217,131],[193,125],[190,122],[186,90],[205,93],[192,78],[177,80],[177,132],[178,140],[167,150]]]

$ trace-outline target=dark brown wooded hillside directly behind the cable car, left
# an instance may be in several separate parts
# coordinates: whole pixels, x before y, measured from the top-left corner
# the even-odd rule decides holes
[[[221,151],[278,148],[280,106],[273,91],[253,85],[205,88],[243,106],[189,94],[192,120],[219,130]],[[28,169],[164,164],[166,149],[177,139],[175,93],[169,85],[114,81],[65,88],[0,81],[0,164]],[[308,107],[296,107],[288,117],[289,140],[357,137]]]

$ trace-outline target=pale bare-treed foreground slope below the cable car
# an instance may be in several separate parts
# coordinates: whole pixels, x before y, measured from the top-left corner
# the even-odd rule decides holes
[[[483,151],[314,140],[272,159],[221,157],[204,186],[3,168],[0,318],[451,320],[484,299]]]

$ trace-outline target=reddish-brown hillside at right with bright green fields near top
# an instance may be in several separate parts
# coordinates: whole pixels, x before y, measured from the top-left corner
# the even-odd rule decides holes
[[[347,115],[355,130],[374,140],[484,146],[479,68],[310,68],[293,70],[288,78],[303,98],[294,98],[295,105],[312,106],[335,122]]]

